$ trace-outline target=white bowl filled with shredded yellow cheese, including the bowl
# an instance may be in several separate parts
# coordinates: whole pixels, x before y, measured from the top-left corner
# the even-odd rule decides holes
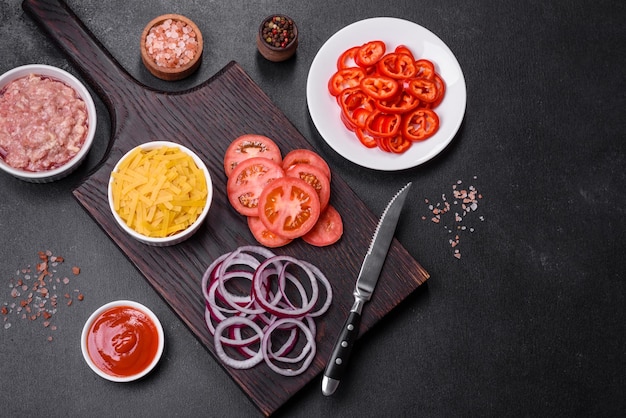
[[[207,217],[212,198],[211,175],[202,159],[171,141],[131,149],[109,178],[108,201],[115,221],[151,246],[190,238]]]

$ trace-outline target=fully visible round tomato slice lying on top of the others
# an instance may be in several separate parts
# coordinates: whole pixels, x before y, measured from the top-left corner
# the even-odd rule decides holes
[[[320,200],[306,181],[282,177],[263,189],[258,213],[270,232],[294,239],[313,229],[320,216]]]

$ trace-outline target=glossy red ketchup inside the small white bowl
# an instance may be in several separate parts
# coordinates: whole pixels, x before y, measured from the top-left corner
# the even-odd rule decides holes
[[[144,312],[117,306],[103,312],[89,329],[91,360],[107,374],[128,377],[146,369],[157,354],[157,328]]]

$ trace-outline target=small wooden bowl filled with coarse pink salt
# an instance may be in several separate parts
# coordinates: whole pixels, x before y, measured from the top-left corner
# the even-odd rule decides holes
[[[141,60],[155,77],[181,80],[198,69],[202,33],[190,19],[165,14],[150,21],[141,34]]]

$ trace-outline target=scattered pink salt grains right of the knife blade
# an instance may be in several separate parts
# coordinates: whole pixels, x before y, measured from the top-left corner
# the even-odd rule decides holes
[[[476,180],[477,177],[474,176],[473,179]],[[452,255],[460,259],[461,235],[475,231],[475,228],[468,224],[475,217],[483,196],[474,185],[463,187],[462,180],[457,180],[451,187],[452,202],[448,200],[445,193],[441,195],[441,201],[437,203],[433,203],[430,199],[424,199],[430,214],[423,215],[422,220],[425,221],[430,218],[432,223],[443,226],[449,234],[455,234],[454,238],[450,238],[448,242],[453,249]],[[478,220],[483,222],[485,218],[481,215]]]

